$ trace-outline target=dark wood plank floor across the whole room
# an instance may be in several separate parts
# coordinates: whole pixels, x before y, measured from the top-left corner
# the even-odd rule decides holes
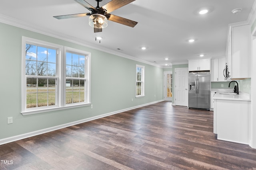
[[[212,111],[160,102],[1,145],[0,169],[256,170],[255,149],[212,131]]]

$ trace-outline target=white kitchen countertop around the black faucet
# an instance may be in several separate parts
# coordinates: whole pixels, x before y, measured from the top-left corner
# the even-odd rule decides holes
[[[240,94],[234,94],[232,92],[217,92],[212,99],[251,101],[251,95],[244,92],[241,92]]]

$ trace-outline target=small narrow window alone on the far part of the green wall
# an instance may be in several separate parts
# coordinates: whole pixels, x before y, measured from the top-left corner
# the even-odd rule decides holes
[[[136,97],[144,96],[144,70],[145,66],[136,64]]]

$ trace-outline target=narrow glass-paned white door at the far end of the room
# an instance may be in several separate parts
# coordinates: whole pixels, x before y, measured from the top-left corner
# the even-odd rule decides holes
[[[172,101],[172,72],[164,72],[164,100]]]

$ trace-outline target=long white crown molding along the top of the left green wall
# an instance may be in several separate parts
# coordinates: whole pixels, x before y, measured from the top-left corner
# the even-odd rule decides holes
[[[16,20],[15,18],[11,18],[9,16],[5,16],[5,15],[2,15],[2,14],[0,14],[0,22],[8,24],[8,25],[15,26],[15,27],[19,27],[19,28],[22,28],[22,29],[26,29],[26,30],[29,30],[29,31],[33,31],[33,32],[36,32],[36,33],[48,35],[50,37],[62,39],[64,41],[68,41],[68,42],[71,42],[71,43],[82,45],[84,47],[89,47],[91,49],[95,49],[95,50],[98,50],[98,51],[110,53],[112,55],[117,55],[119,57],[123,57],[123,58],[130,59],[130,60],[133,60],[133,61],[138,61],[138,62],[141,62],[141,63],[144,63],[144,64],[149,64],[149,65],[152,65],[152,66],[163,68],[162,66],[160,66],[158,64],[150,63],[148,61],[144,61],[142,59],[138,59],[136,57],[126,55],[124,53],[116,52],[114,50],[111,50],[111,49],[108,49],[108,48],[105,48],[105,47],[102,47],[102,46],[99,46],[99,45],[95,45],[95,44],[90,43],[88,41],[83,41],[81,39],[78,39],[78,38],[75,38],[75,37],[72,37],[72,36],[61,34],[61,33],[58,33],[56,31],[52,31],[50,29],[45,29],[45,28],[42,28],[42,27],[38,27],[36,25],[31,25],[30,23],[26,23],[26,22],[23,22],[23,21],[20,21],[20,20]]]

